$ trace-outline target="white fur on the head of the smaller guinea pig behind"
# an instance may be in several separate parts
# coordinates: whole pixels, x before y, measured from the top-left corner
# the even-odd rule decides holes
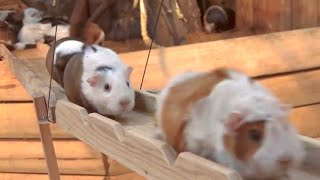
[[[97,51],[86,50],[83,56],[82,93],[101,114],[119,115],[132,110],[135,104],[135,93],[127,76],[129,67],[111,49],[99,45],[93,46]],[[112,70],[102,72],[104,81],[102,85],[92,87],[87,80],[95,75],[99,66],[108,66]],[[110,92],[104,90],[107,83],[111,86]],[[123,110],[119,104],[124,99],[129,101],[126,110]]]

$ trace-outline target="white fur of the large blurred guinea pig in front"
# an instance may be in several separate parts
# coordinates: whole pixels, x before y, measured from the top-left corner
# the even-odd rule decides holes
[[[230,79],[218,83],[209,96],[195,102],[188,113],[184,130],[186,149],[205,158],[234,168],[244,177],[267,178],[282,171],[277,159],[289,156],[294,166],[303,161],[305,151],[295,128],[285,121],[289,108],[262,85],[236,71],[229,71]],[[158,98],[157,119],[170,87],[200,73],[187,72],[172,79]],[[190,85],[192,86],[192,84]],[[187,91],[187,89],[186,89]],[[261,147],[249,161],[237,160],[225,149],[225,124],[232,113],[243,115],[243,123],[266,120],[265,137]],[[161,127],[161,121],[158,122]],[[163,134],[165,138],[165,135]]]

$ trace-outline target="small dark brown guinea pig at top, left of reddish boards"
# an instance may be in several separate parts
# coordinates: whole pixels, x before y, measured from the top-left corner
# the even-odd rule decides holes
[[[210,6],[204,16],[203,25],[207,33],[223,32],[235,27],[235,13],[232,9]]]

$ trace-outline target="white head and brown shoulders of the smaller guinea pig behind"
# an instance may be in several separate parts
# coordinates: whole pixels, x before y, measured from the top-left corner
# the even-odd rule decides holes
[[[132,68],[112,50],[98,45],[93,48],[87,47],[66,65],[63,83],[69,100],[106,116],[131,111],[135,104]]]

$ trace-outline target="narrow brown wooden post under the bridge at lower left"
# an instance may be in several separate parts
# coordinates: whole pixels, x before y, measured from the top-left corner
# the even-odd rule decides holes
[[[60,180],[57,158],[51,137],[50,125],[48,121],[48,113],[46,100],[43,96],[33,99],[37,113],[38,125],[40,129],[40,137],[43,152],[46,158],[48,174],[50,180]]]

